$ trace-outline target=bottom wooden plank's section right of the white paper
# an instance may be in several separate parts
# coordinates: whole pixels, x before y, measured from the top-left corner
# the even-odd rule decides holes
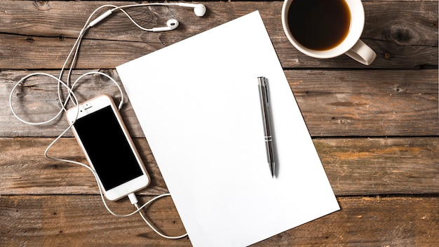
[[[338,201],[341,211],[255,246],[433,247],[439,244],[438,197],[342,197]]]

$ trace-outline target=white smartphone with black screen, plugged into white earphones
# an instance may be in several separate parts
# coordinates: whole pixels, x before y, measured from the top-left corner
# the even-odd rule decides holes
[[[116,201],[147,187],[149,175],[112,98],[98,95],[78,107],[67,111],[67,120],[104,196]]]

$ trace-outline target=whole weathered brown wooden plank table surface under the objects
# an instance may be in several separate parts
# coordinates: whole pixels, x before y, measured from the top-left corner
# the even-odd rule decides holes
[[[191,246],[154,234],[138,215],[110,215],[88,170],[46,159],[44,149],[67,127],[62,117],[29,126],[8,107],[22,76],[58,76],[88,15],[109,3],[0,1],[0,246]],[[86,34],[72,78],[100,71],[119,79],[117,65],[259,10],[342,210],[255,246],[439,246],[438,1],[363,1],[362,39],[377,53],[370,66],[299,53],[283,34],[283,1],[203,4],[203,18],[190,8],[133,11],[151,27],[177,18],[173,32],[143,32],[114,13]],[[119,99],[104,76],[89,76],[76,93]],[[13,93],[29,121],[53,116],[56,100],[55,81],[42,76]],[[151,175],[144,202],[168,190],[129,103],[121,113]],[[70,132],[50,154],[85,162]],[[110,206],[133,211],[127,199]],[[169,197],[145,213],[166,234],[184,232]]]

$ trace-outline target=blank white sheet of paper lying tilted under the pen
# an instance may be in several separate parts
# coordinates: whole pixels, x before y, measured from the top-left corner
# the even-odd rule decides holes
[[[116,69],[194,246],[248,246],[339,210],[259,11]]]

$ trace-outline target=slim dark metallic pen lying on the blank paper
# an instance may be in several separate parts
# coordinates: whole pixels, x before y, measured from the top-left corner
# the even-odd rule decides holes
[[[273,140],[271,138],[269,88],[264,76],[257,77],[259,81],[259,98],[261,99],[262,120],[264,123],[266,157],[270,166],[271,177],[274,178],[276,164],[274,163]]]

